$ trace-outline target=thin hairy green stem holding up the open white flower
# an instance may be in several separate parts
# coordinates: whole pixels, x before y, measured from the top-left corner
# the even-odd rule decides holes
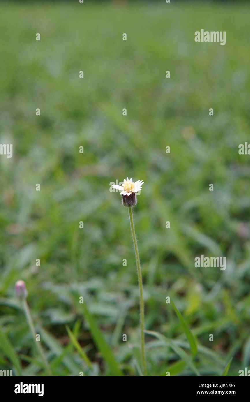
[[[143,367],[144,375],[147,375],[145,345],[144,345],[144,302],[143,302],[143,287],[142,287],[142,269],[140,267],[140,256],[139,256],[139,250],[138,250],[138,246],[137,246],[136,234],[135,234],[135,230],[134,230],[132,207],[128,208],[128,215],[129,215],[129,219],[130,219],[130,228],[131,228],[132,239],[133,239],[133,243],[134,243],[134,253],[135,253],[135,259],[136,259],[136,268],[137,268],[138,283],[139,283],[139,290],[140,290],[140,343],[141,343],[141,351],[142,351],[142,367]]]

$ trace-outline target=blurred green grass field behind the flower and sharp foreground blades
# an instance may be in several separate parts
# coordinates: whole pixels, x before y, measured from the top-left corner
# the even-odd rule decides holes
[[[220,375],[230,357],[230,375],[249,366],[250,164],[238,155],[249,139],[249,18],[240,2],[2,3],[0,139],[13,157],[0,157],[0,327],[24,375],[41,367],[18,279],[54,375],[93,374],[65,324],[96,375],[110,374],[79,295],[123,373],[138,375],[132,239],[120,195],[109,191],[126,176],[145,182],[134,216],[146,328],[188,352],[170,295],[201,345],[201,375]],[[195,43],[202,28],[226,31],[226,45]],[[201,254],[226,256],[226,271],[194,268]],[[151,375],[194,375],[161,341],[146,343]],[[0,368],[13,368],[3,345]]]

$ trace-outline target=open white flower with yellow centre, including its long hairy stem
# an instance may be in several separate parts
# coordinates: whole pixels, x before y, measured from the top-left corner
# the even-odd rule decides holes
[[[144,342],[144,301],[143,301],[143,286],[142,286],[142,269],[140,266],[140,256],[134,229],[134,220],[132,211],[132,208],[137,203],[136,193],[141,190],[143,183],[144,182],[142,180],[138,180],[135,183],[133,183],[132,178],[128,180],[127,177],[127,180],[124,179],[122,186],[112,185],[112,187],[120,191],[120,194],[122,195],[122,203],[124,206],[128,207],[128,215],[130,219],[130,228],[134,243],[134,253],[136,259],[136,269],[137,269],[138,284],[140,291],[140,344],[141,344],[141,355],[142,355],[142,367],[144,375],[147,375],[145,342]]]

